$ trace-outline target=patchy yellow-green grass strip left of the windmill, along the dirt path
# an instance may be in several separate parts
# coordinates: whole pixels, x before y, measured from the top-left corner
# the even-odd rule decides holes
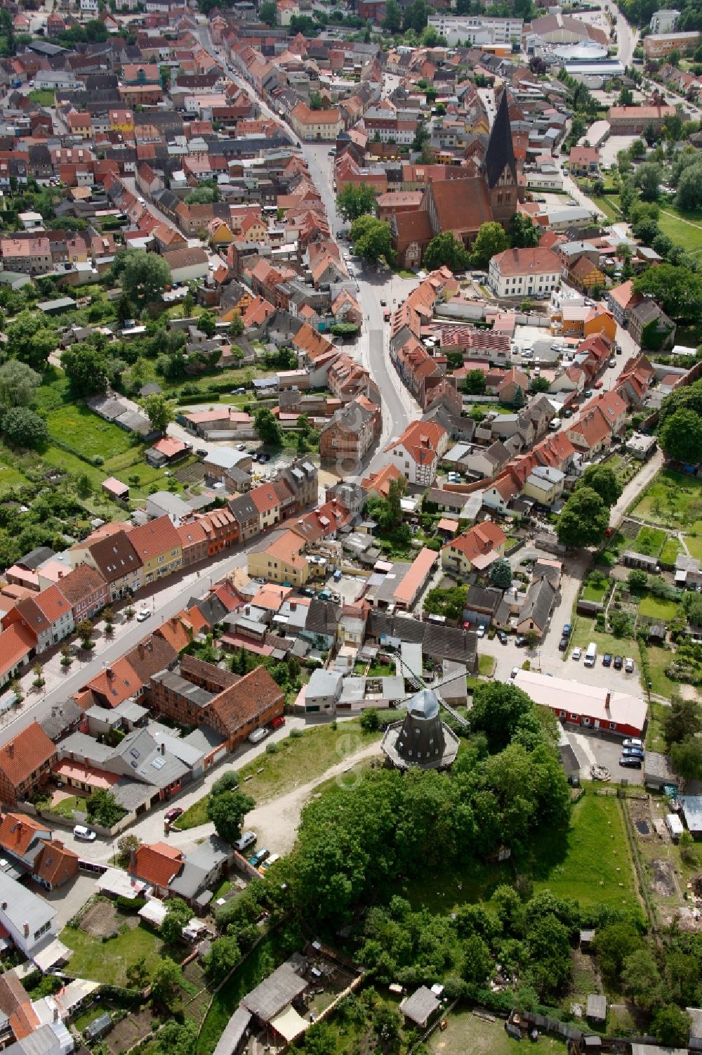
[[[386,713],[383,712],[386,721]],[[353,754],[371,744],[379,733],[365,733],[357,720],[345,722],[337,729],[331,725],[305,729],[301,736],[285,740],[276,744],[275,754],[264,752],[238,770],[241,789],[254,798],[256,805],[275,799],[300,784],[308,784],[323,776],[327,769],[351,759]],[[261,769],[262,772],[257,772]],[[251,775],[251,780],[246,781]],[[207,823],[208,797],[194,803],[178,818],[178,828],[196,828]]]

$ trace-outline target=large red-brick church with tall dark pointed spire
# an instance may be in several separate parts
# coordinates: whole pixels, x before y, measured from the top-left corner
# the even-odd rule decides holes
[[[399,212],[390,218],[393,248],[401,267],[418,267],[425,249],[442,231],[452,231],[469,247],[482,224],[496,220],[507,227],[519,203],[524,200],[506,91],[502,93],[480,171],[475,174],[471,167],[465,172],[465,178],[432,180],[424,191],[418,210]]]

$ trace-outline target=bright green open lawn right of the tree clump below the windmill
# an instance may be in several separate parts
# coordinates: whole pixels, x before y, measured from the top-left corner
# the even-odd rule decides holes
[[[547,831],[531,850],[534,893],[549,889],[584,905],[637,905],[624,821],[613,797],[587,788],[572,807],[565,839],[561,831]]]

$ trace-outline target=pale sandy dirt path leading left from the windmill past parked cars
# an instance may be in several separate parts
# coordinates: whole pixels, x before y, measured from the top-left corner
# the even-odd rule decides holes
[[[271,853],[280,853],[281,856],[289,853],[295,842],[303,807],[314,789],[319,784],[324,784],[325,781],[340,776],[347,770],[353,769],[357,763],[379,753],[381,742],[376,741],[335,766],[330,766],[321,776],[317,776],[300,787],[293,788],[292,791],[288,791],[287,794],[280,795],[278,799],[272,799],[270,802],[257,806],[247,814],[246,827],[256,831],[259,847],[266,846]],[[212,831],[214,831],[212,824],[201,824],[198,828],[190,828],[188,831],[177,835],[173,832],[169,843],[172,846],[177,846],[178,849],[192,849],[198,841],[211,835]]]

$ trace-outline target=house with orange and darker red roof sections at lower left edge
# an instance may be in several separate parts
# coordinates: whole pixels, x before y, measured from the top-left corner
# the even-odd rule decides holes
[[[20,870],[48,890],[78,875],[78,855],[67,849],[43,823],[25,813],[5,813],[0,821],[0,848]]]

